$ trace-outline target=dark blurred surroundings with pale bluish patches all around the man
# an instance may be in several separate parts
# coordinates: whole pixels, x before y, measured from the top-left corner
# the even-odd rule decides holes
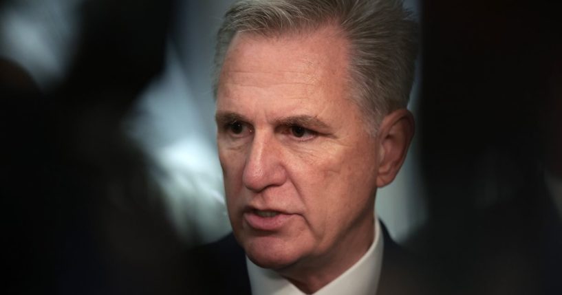
[[[215,33],[232,1],[0,1],[5,288],[189,294],[230,231]],[[421,25],[407,162],[378,192],[444,294],[561,294],[561,5],[405,1]]]

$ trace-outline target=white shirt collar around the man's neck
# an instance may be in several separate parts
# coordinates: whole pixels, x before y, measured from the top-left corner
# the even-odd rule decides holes
[[[369,250],[352,267],[349,267],[341,276],[338,276],[334,281],[319,289],[314,295],[376,294],[384,245],[382,233],[380,232],[380,223],[377,218],[375,218],[374,228],[375,238]],[[248,257],[246,257],[246,265],[248,267],[252,294],[305,295],[299,288],[277,274],[277,272],[255,265]]]

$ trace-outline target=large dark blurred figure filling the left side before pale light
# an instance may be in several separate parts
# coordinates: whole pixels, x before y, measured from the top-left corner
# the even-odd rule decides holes
[[[52,91],[0,61],[3,293],[186,294],[182,243],[121,129],[162,70],[172,8],[85,1],[72,67]]]

